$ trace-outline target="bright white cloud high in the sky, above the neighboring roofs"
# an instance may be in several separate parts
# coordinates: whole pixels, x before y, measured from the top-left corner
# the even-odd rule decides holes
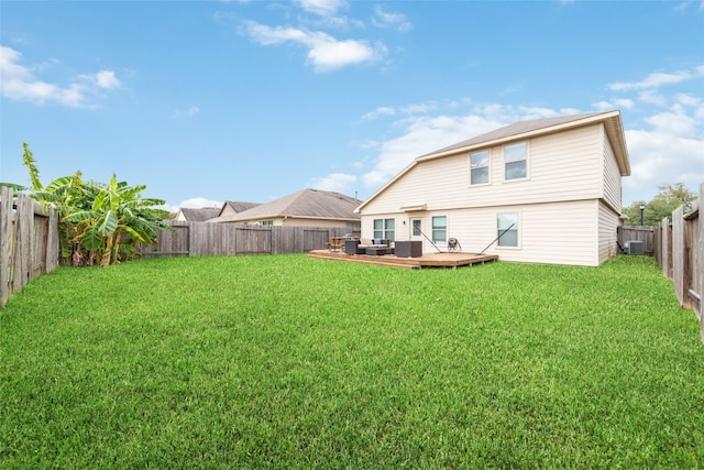
[[[287,42],[298,43],[308,48],[307,62],[316,72],[328,72],[354,64],[376,62],[386,53],[386,47],[372,46],[366,41],[339,41],[319,31],[296,28],[271,28],[249,21],[244,33],[262,45],[276,45]]]

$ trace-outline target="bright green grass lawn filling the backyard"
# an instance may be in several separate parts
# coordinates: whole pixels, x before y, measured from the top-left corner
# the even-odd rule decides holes
[[[696,468],[704,346],[650,258],[69,269],[0,309],[0,468]]]

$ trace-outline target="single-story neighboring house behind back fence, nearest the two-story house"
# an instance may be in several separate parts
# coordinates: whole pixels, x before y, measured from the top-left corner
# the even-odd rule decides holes
[[[362,201],[339,193],[304,189],[213,222],[287,227],[339,227],[359,231],[360,216],[354,212]]]

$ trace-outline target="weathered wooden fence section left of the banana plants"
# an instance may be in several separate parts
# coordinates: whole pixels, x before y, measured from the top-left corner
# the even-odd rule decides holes
[[[9,187],[0,193],[0,307],[58,266],[58,215]]]

